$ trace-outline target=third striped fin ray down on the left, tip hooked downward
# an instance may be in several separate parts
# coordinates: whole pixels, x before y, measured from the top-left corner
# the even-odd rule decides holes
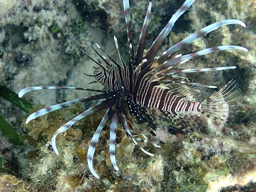
[[[78,120],[80,120],[81,118],[92,114],[94,112],[100,111],[104,108],[109,107],[110,105],[112,105],[113,100],[115,99],[115,97],[107,98],[104,99],[103,101],[95,104],[94,106],[88,108],[87,110],[85,110],[84,112],[82,112],[81,114],[77,115],[76,117],[74,117],[73,119],[69,120],[68,122],[66,122],[64,125],[62,125],[52,136],[51,138],[51,145],[53,150],[55,151],[56,154],[58,154],[57,148],[56,148],[56,136],[61,133],[64,132],[65,130],[67,130],[70,126],[72,126],[75,122],[77,122]]]

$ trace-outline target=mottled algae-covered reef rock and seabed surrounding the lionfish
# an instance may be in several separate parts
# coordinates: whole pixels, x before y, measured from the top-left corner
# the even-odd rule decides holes
[[[152,0],[146,48],[184,0]],[[134,41],[140,34],[147,0],[130,0]],[[205,122],[203,132],[173,131],[169,120],[152,110],[161,147],[150,145],[148,156],[130,145],[119,127],[115,171],[109,158],[109,125],[104,127],[87,167],[90,139],[103,112],[78,121],[57,137],[59,155],[49,141],[65,122],[93,103],[75,104],[40,116],[28,124],[32,112],[59,102],[91,95],[79,90],[37,90],[24,99],[28,86],[103,88],[83,72],[92,74],[98,43],[118,60],[113,35],[124,60],[128,43],[122,0],[1,0],[0,1],[0,192],[1,191],[256,191],[256,0],[196,0],[175,22],[159,52],[204,26],[224,19],[238,25],[222,26],[183,48],[186,54],[217,45],[239,45],[249,51],[216,51],[194,58],[186,68],[237,66],[225,71],[189,73],[190,80],[222,87],[235,79],[238,104],[225,124]],[[208,91],[205,95],[210,95]],[[203,98],[202,98],[203,99]],[[140,125],[143,128],[145,125]],[[144,127],[144,133],[151,137]],[[146,146],[146,145],[145,145]]]

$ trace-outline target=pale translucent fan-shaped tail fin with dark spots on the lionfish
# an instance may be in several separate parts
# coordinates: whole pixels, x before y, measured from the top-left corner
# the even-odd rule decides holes
[[[218,92],[204,99],[201,103],[200,112],[215,121],[226,121],[229,116],[229,108],[235,106],[233,101],[239,96],[234,96],[239,91],[235,80],[230,80]]]

